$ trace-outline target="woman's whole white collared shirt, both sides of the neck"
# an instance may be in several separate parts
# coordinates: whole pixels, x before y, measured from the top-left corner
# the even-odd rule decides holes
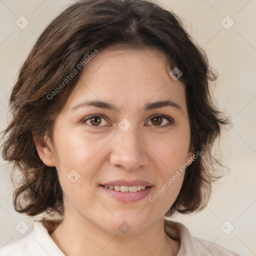
[[[180,241],[177,256],[240,256],[215,242],[191,236],[188,229],[179,222],[164,219],[164,230],[171,238]],[[46,227],[34,221],[33,230],[24,238],[0,248],[0,256],[65,256],[50,237]]]

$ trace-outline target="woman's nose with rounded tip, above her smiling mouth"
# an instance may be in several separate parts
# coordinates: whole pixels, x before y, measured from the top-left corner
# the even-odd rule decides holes
[[[126,170],[145,167],[149,162],[148,148],[141,135],[132,128],[118,130],[112,141],[109,161],[111,165]]]

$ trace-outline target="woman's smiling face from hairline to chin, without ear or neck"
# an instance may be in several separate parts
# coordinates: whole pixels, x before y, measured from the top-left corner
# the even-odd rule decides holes
[[[86,64],[53,127],[66,217],[133,234],[176,199],[184,176],[178,168],[192,153],[185,85],[170,77],[166,61],[154,48],[105,49]],[[149,187],[123,192],[143,183]]]

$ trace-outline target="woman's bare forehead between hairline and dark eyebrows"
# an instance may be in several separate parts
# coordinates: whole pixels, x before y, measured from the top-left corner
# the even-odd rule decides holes
[[[156,48],[99,50],[82,70],[66,105],[85,99],[118,106],[150,99],[182,104],[184,84],[173,80],[169,71],[166,55]]]

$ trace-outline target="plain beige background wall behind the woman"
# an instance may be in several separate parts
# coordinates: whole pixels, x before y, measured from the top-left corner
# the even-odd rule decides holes
[[[70,0],[0,0],[0,130],[6,126],[7,100],[17,71],[47,23]],[[177,215],[191,234],[215,241],[244,256],[256,255],[256,143],[255,143],[255,0],[158,0],[184,20],[188,32],[206,51],[211,66],[219,73],[215,97],[221,110],[230,113],[232,125],[224,130],[215,154],[230,169],[214,185],[207,207],[190,215]],[[20,29],[15,21],[25,16],[29,24]],[[231,19],[234,24],[230,25]],[[224,18],[224,19],[223,19]],[[221,20],[223,21],[221,22]],[[229,129],[229,130],[228,130]],[[14,211],[11,202],[9,169],[0,160],[0,246],[27,235],[32,219]],[[22,235],[19,221],[29,229]],[[234,229],[225,234],[231,225]],[[199,256],[199,255],[198,255]]]

